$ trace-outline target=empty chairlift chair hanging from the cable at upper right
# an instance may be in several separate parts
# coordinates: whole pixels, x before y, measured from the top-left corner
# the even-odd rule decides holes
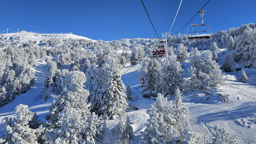
[[[187,37],[188,37],[188,41],[190,42],[201,42],[201,41],[207,41],[211,39],[211,30],[209,28],[209,26],[207,24],[203,24],[204,20],[203,20],[203,15],[204,15],[204,11],[201,10],[199,12],[201,14],[202,17],[202,23],[201,24],[191,24],[189,27],[192,27],[192,32],[188,32],[187,30]],[[209,32],[207,30],[204,30],[204,26],[207,26],[209,29]],[[194,31],[194,27],[202,27],[202,31]],[[192,34],[190,34],[192,33]]]

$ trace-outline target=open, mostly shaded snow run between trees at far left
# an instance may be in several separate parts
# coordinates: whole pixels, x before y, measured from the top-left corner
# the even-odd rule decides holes
[[[43,81],[45,80],[48,72],[46,62],[41,62],[41,59],[37,59],[36,66],[32,68],[32,71],[35,73],[35,83],[26,93],[17,95],[11,103],[8,103],[0,108],[0,122],[2,122],[2,119],[6,116],[16,117],[14,110],[19,104],[28,105],[29,110],[37,113],[40,120],[45,120],[44,116],[49,112],[47,108],[51,105],[53,100],[51,98],[50,100],[44,102],[41,94],[43,89]],[[0,123],[0,126],[2,125],[3,124]],[[4,134],[4,131],[0,129],[0,135],[2,134]]]

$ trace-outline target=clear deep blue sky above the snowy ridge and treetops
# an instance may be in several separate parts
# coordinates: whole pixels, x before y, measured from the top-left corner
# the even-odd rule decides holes
[[[171,30],[178,32],[208,0],[183,0]],[[158,36],[168,32],[180,0],[143,0]],[[204,23],[212,33],[256,22],[256,0],[210,0]],[[140,0],[2,0],[0,32],[9,28],[37,33],[73,32],[94,40],[154,38]],[[198,14],[191,24],[201,23]]]

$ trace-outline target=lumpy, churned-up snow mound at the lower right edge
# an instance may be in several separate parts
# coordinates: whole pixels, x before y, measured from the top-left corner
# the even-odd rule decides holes
[[[256,113],[250,113],[243,115],[241,118],[234,120],[236,124],[242,126],[242,127],[255,127],[256,126]]]

